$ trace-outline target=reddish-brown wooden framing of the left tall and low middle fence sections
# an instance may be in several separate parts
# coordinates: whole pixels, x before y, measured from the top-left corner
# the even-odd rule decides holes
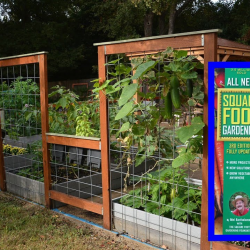
[[[42,150],[43,150],[43,170],[44,170],[44,190],[45,204],[47,208],[52,208],[52,200],[60,201],[75,207],[86,209],[88,211],[103,215],[104,227],[111,229],[110,221],[110,194],[109,194],[109,172],[108,170],[108,136],[105,119],[101,119],[102,142],[100,140],[91,140],[90,138],[79,138],[77,136],[68,136],[49,133],[49,115],[48,115],[48,76],[47,76],[47,52],[38,52],[19,56],[0,58],[0,67],[19,66],[24,64],[39,64],[40,76],[40,102],[41,102],[41,120],[42,120]],[[102,98],[103,100],[103,98]],[[101,117],[107,117],[105,106],[100,106]],[[1,140],[0,126],[0,140]],[[91,202],[89,200],[70,196],[58,191],[51,190],[51,169],[49,144],[61,144],[74,147],[82,147],[100,150],[102,155],[102,182],[103,182],[103,204]],[[105,171],[105,169],[107,169]],[[0,188],[6,191],[6,177],[4,168],[3,148],[0,143]]]

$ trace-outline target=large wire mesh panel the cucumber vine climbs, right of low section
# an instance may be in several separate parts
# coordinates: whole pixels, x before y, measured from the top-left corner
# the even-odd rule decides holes
[[[157,60],[158,52],[153,56],[133,53],[107,57],[108,80],[113,79],[114,86],[116,82],[129,84],[126,74],[136,74],[138,59],[140,63],[148,58]],[[163,60],[155,68],[159,73],[169,63]],[[164,249],[199,249],[202,150],[188,164],[172,167],[172,162],[179,150],[187,148],[179,140],[178,130],[202,115],[203,108],[198,103],[192,107],[182,105],[174,110],[172,119],[165,119],[161,115],[165,109],[161,94],[164,84],[157,76],[161,75],[139,80],[139,94],[133,100],[137,108],[122,119],[115,120],[121,110],[121,91],[109,95],[113,226],[120,233]]]

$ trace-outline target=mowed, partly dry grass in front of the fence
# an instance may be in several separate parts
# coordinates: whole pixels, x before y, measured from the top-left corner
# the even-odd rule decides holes
[[[81,224],[0,191],[1,250],[133,249]]]

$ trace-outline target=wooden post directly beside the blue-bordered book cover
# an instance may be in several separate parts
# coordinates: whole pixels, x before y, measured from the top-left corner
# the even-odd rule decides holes
[[[217,33],[204,35],[204,115],[202,206],[201,206],[201,250],[210,250],[208,241],[208,62],[217,60]]]

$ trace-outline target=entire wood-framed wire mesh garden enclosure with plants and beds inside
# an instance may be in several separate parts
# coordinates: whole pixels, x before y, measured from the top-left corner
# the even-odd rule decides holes
[[[207,240],[208,61],[235,60],[235,57],[248,60],[250,56],[248,46],[217,38],[218,32],[210,30],[95,44],[103,85],[99,86],[100,105],[95,106],[92,102],[91,106],[100,113],[100,138],[94,137],[96,131],[94,135],[90,133],[92,137],[86,137],[80,124],[77,130],[70,123],[76,116],[84,120],[86,117],[82,114],[89,112],[89,107],[77,103],[74,93],[55,89],[55,96],[61,96],[49,104],[46,53],[1,59],[1,100],[5,100],[1,106],[4,110],[1,123],[8,133],[3,138],[4,144],[11,145],[10,150],[25,149],[24,154],[12,156],[6,152],[4,158],[2,155],[1,190],[23,196],[26,192],[29,193],[26,198],[33,200],[43,197],[36,201],[47,207],[52,207],[52,203],[54,206],[65,203],[87,209],[103,215],[105,228],[115,227],[119,232],[158,246],[210,249]],[[166,51],[168,47],[176,51]],[[185,99],[186,102],[193,100],[191,105],[182,103],[178,107],[173,103],[174,112],[171,110],[168,117],[161,112],[165,108],[164,91],[167,92],[163,80],[170,76],[169,72],[176,72],[172,66],[169,69],[169,65],[178,64],[180,58],[187,56],[178,51],[194,56],[188,62],[194,63],[197,73],[195,77],[187,75],[183,82],[199,77],[204,78],[204,86],[197,80],[193,95]],[[142,70],[139,75],[140,65],[146,63],[146,73]],[[204,71],[200,63],[204,64]],[[181,61],[181,66],[185,65]],[[193,72],[193,69],[188,66],[186,71]],[[133,77],[136,74],[138,78]],[[176,76],[179,77],[177,73]],[[20,93],[18,86],[27,81],[34,88],[28,93]],[[134,92],[131,83],[138,87]],[[117,86],[121,87],[118,91],[115,90]],[[129,94],[119,101],[116,94],[126,87],[130,89]],[[204,103],[201,92],[204,92]],[[7,99],[14,101],[7,102]],[[121,115],[125,105],[124,110],[128,112]],[[76,107],[78,114],[68,112]],[[202,127],[198,120],[201,115],[205,123],[203,153],[197,152],[194,161],[185,167],[173,168],[172,163],[178,158],[177,150],[181,152],[186,148],[185,138],[179,138],[178,130],[189,125],[192,119]],[[91,119],[87,118],[85,127]],[[68,121],[69,126],[62,129],[60,121]],[[59,128],[61,134],[57,133]],[[27,142],[28,139],[23,138],[26,136],[33,141]],[[199,139],[200,135],[195,136]],[[18,149],[13,149],[16,146]],[[1,150],[5,152],[8,148],[4,145]],[[41,169],[42,176],[39,175]],[[21,177],[19,180],[11,179],[17,175]],[[34,179],[39,186],[37,191],[34,191],[36,184],[28,182]],[[200,210],[201,181],[203,202]],[[22,194],[18,193],[20,189],[24,190]],[[213,249],[229,249],[222,242],[211,244]],[[230,249],[238,248],[230,245]]]

